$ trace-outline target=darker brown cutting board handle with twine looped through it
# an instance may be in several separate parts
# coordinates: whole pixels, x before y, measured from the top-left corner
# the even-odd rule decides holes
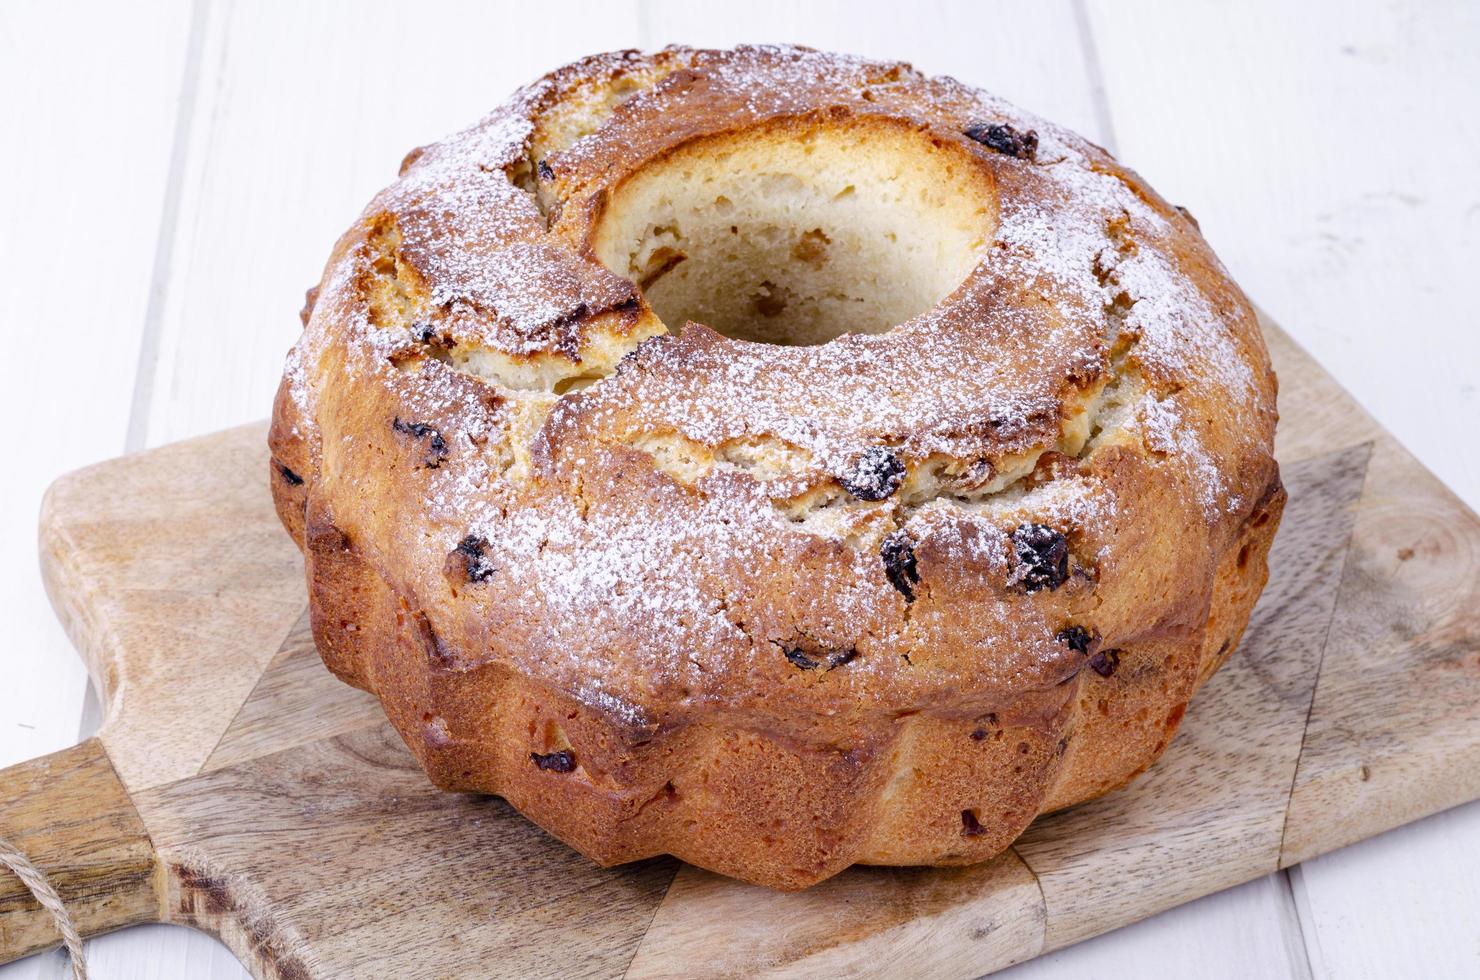
[[[160,921],[154,844],[98,739],[0,770],[0,838],[46,873],[81,936]],[[0,962],[61,942],[50,912],[0,866]]]

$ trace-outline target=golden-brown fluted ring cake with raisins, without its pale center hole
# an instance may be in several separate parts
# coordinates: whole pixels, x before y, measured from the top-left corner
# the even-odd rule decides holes
[[[596,259],[681,148],[845,130],[919,141],[993,209],[897,329],[667,335]],[[904,65],[561,68],[410,154],[309,309],[271,486],[326,663],[437,785],[602,863],[799,888],[984,860],[1144,770],[1264,585],[1274,379],[1196,226]],[[839,489],[872,447],[904,471],[878,500]]]

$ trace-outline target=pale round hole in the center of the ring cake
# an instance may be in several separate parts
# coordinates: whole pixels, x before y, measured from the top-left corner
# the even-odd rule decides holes
[[[669,330],[826,343],[949,296],[995,231],[969,152],[878,118],[691,142],[629,176],[592,244]]]

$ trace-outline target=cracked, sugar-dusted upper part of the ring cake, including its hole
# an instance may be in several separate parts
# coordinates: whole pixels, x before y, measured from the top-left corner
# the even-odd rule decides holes
[[[672,47],[410,154],[272,438],[440,669],[815,739],[1054,714],[1202,628],[1274,420],[1249,303],[1103,150],[907,65]]]

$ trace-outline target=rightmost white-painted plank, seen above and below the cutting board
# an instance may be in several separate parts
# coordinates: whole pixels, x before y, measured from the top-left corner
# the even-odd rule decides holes
[[[1089,7],[1123,158],[1471,506],[1480,9]],[[1461,443],[1462,444],[1462,443]],[[1316,977],[1480,976],[1480,807],[1291,873]]]

